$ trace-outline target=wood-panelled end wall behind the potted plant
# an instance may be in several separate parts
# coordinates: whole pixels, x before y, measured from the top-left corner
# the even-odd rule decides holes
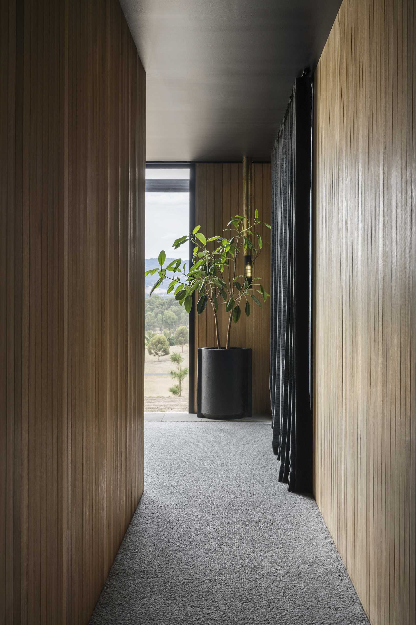
[[[207,236],[221,234],[230,218],[242,214],[242,164],[202,163],[196,165],[195,223]],[[252,165],[252,210],[257,208],[262,221],[270,223],[270,164]],[[255,276],[262,277],[265,290],[270,292],[270,230],[262,226],[259,232],[264,241],[262,253],[255,262]],[[238,274],[244,274],[244,258],[240,256]],[[219,326],[222,344],[227,335],[228,314],[219,309]],[[195,344],[198,347],[216,346],[215,322],[212,310],[195,315]],[[244,311],[237,325],[232,324],[232,347],[252,348],[253,411],[270,413],[269,361],[270,361],[270,298],[263,308],[252,302],[250,317]],[[195,362],[197,364],[197,352]],[[195,382],[197,371],[195,372]],[[196,401],[196,392],[195,392]],[[196,410],[196,408],[195,408]]]

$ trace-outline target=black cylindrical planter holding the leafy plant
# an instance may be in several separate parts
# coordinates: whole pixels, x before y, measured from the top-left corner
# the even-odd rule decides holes
[[[251,415],[251,349],[198,347],[197,416],[241,419]]]

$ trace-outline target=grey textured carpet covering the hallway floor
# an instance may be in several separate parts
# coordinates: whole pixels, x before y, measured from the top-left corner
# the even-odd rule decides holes
[[[277,481],[268,424],[144,436],[144,494],[91,624],[368,622],[314,499]]]

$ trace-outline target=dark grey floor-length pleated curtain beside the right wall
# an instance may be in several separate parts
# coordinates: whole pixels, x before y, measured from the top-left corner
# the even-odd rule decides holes
[[[312,490],[312,81],[297,78],[272,153],[270,401],[279,481]]]

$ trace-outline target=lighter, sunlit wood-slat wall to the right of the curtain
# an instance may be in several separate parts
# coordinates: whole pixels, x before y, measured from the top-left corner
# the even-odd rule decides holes
[[[416,622],[416,19],[344,0],[315,73],[314,492],[373,624]]]

